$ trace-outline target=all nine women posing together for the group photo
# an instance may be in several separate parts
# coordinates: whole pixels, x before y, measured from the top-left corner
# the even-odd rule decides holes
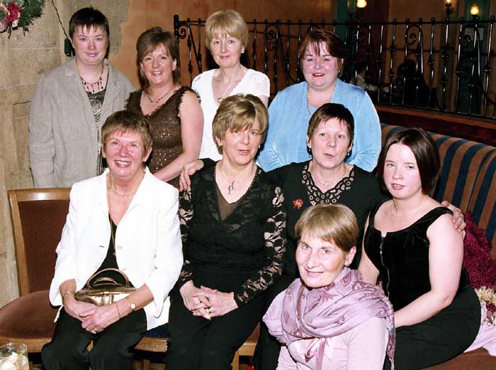
[[[240,63],[248,28],[236,11],[208,18],[219,67],[194,92],[161,28],[137,40],[142,89],[130,95],[105,59],[105,16],[81,9],[69,32],[76,55],[40,81],[30,113],[35,185],[84,180],[57,247],[50,301],[62,306],[46,369],[130,369],[135,344],[167,322],[171,370],[230,369],[262,316],[257,370],[422,369],[473,342],[480,305],[461,264],[463,221],[430,198],[434,142],[402,130],[379,156],[371,100],[338,79],[337,36],[308,33],[305,82],[267,110],[269,79]],[[57,100],[61,83],[74,101]],[[77,301],[109,268],[135,291]]]

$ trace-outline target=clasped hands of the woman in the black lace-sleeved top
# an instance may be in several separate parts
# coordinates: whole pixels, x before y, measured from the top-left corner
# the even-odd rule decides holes
[[[217,289],[201,286],[197,288],[193,281],[188,281],[179,289],[184,301],[184,305],[195,316],[203,316],[207,320],[212,320],[216,316],[222,316],[235,310],[237,303],[234,293],[225,293]]]

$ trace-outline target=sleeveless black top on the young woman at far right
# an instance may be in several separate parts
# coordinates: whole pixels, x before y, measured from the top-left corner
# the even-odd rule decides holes
[[[453,213],[434,208],[408,228],[388,232],[382,237],[374,228],[374,216],[382,203],[372,208],[365,234],[365,252],[379,270],[384,293],[395,310],[400,310],[431,290],[429,281],[429,240],[427,229],[441,215]],[[470,284],[462,268],[458,292]]]

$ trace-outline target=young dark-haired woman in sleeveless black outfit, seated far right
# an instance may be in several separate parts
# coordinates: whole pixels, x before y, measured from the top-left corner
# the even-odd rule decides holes
[[[480,303],[462,267],[463,235],[453,230],[451,211],[429,196],[438,174],[439,153],[424,130],[386,140],[378,176],[393,199],[368,216],[359,270],[368,283],[380,277],[393,303],[400,370],[456,357],[480,326]]]

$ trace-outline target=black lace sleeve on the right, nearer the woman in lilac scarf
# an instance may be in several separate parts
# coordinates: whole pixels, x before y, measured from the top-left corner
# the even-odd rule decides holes
[[[234,291],[238,306],[259,296],[276,281],[283,272],[283,257],[286,252],[286,211],[281,188],[276,187],[272,199],[271,215],[264,225],[264,258],[266,264]]]

